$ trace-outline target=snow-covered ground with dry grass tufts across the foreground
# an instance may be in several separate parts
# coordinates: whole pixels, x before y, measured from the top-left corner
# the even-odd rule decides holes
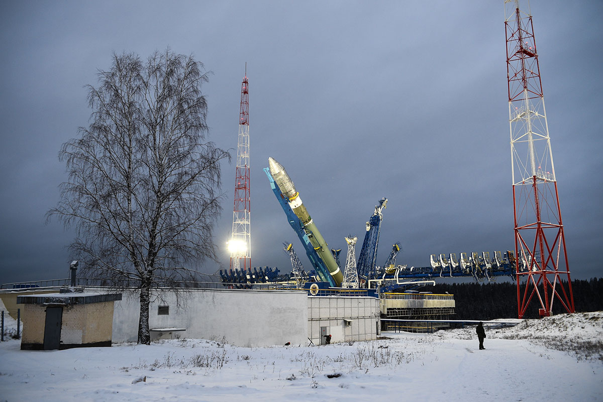
[[[603,401],[603,312],[488,325],[486,350],[475,327],[318,347],[21,351],[10,339],[0,344],[0,401]]]

